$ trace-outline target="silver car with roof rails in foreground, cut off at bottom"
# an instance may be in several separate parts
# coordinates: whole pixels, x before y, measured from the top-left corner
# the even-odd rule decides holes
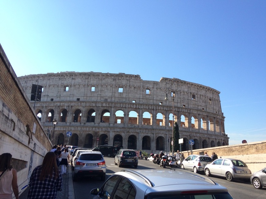
[[[91,190],[93,199],[232,199],[226,187],[205,176],[182,170],[124,169]]]

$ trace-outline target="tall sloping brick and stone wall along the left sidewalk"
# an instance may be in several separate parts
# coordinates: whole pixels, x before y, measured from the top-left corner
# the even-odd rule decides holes
[[[12,154],[20,190],[28,184],[32,170],[42,163],[52,145],[1,45],[0,121],[0,155]]]

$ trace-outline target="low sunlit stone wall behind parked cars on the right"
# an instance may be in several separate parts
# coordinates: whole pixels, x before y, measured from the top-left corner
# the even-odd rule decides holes
[[[235,158],[244,161],[251,172],[259,171],[266,167],[266,141],[250,142],[246,144],[236,144],[229,146],[205,148],[192,150],[193,154],[204,155],[205,152],[209,156],[215,152],[218,157]],[[191,155],[191,151],[182,151],[184,157]]]

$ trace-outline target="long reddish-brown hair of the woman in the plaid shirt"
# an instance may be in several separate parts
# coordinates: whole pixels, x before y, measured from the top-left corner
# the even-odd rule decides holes
[[[57,179],[59,175],[59,171],[57,168],[56,157],[54,152],[48,152],[43,158],[42,161],[42,170],[40,174],[40,180],[44,181],[46,177],[52,178],[53,172],[55,172],[55,179]]]

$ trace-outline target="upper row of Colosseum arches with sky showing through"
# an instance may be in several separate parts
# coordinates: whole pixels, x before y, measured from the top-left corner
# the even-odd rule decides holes
[[[57,122],[84,122],[84,123],[128,123],[128,124],[142,124],[142,125],[156,125],[156,126],[172,126],[174,122],[178,122],[180,127],[191,127],[195,129],[203,129],[209,131],[223,132],[224,133],[224,121],[208,117],[206,115],[197,115],[193,113],[182,113],[178,112],[179,119],[177,115],[165,114],[163,112],[158,112],[156,117],[153,117],[153,114],[149,111],[143,112],[140,117],[140,114],[134,110],[130,111],[127,114],[123,110],[117,110],[113,119],[112,114],[108,109],[103,109],[99,114],[96,114],[96,111],[91,108],[89,109],[85,116],[82,115],[82,112],[79,108],[68,113],[67,109],[61,109],[58,114],[59,121]],[[41,122],[52,122],[55,118],[54,109],[48,109],[45,111],[44,115],[42,110],[37,111],[37,116]],[[113,120],[111,122],[111,120]]]

